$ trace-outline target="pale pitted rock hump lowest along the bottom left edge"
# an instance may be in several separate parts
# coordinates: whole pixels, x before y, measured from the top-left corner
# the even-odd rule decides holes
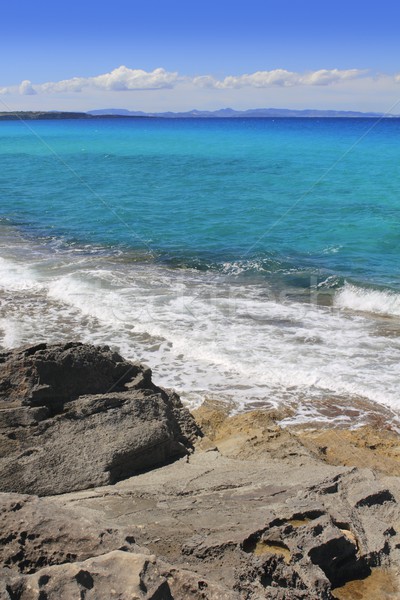
[[[1,591],[1,588],[0,588]],[[83,562],[8,575],[7,600],[239,600],[239,596],[154,555],[114,550]]]

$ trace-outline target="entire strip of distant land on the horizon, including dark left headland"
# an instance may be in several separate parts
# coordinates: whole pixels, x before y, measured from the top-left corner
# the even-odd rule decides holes
[[[400,115],[391,115],[375,112],[358,112],[351,110],[295,110],[289,108],[252,108],[249,110],[234,110],[221,108],[219,110],[190,110],[186,112],[161,112],[147,113],[132,111],[125,108],[103,108],[89,110],[88,112],[67,111],[10,111],[0,112],[0,121],[36,121],[36,120],[61,120],[61,119],[98,119],[98,118],[158,118],[158,119],[262,119],[262,118],[399,118]]]

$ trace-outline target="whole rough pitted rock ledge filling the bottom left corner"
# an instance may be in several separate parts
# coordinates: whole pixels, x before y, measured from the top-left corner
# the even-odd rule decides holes
[[[82,514],[86,513],[86,514]],[[138,529],[104,526],[58,498],[0,494],[1,600],[233,600],[206,578],[156,559]]]

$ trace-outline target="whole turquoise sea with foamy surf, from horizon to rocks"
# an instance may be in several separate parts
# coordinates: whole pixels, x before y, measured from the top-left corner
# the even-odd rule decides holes
[[[400,422],[400,119],[0,122],[0,349],[107,344],[190,408]]]

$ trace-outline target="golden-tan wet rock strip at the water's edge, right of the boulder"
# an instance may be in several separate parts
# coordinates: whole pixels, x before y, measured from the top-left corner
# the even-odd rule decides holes
[[[400,432],[377,415],[370,424],[351,428],[327,423],[282,427],[285,411],[256,409],[231,415],[221,402],[205,401],[192,414],[207,438],[228,455],[255,458],[270,450],[272,438],[274,444],[291,439],[326,464],[400,477]]]

